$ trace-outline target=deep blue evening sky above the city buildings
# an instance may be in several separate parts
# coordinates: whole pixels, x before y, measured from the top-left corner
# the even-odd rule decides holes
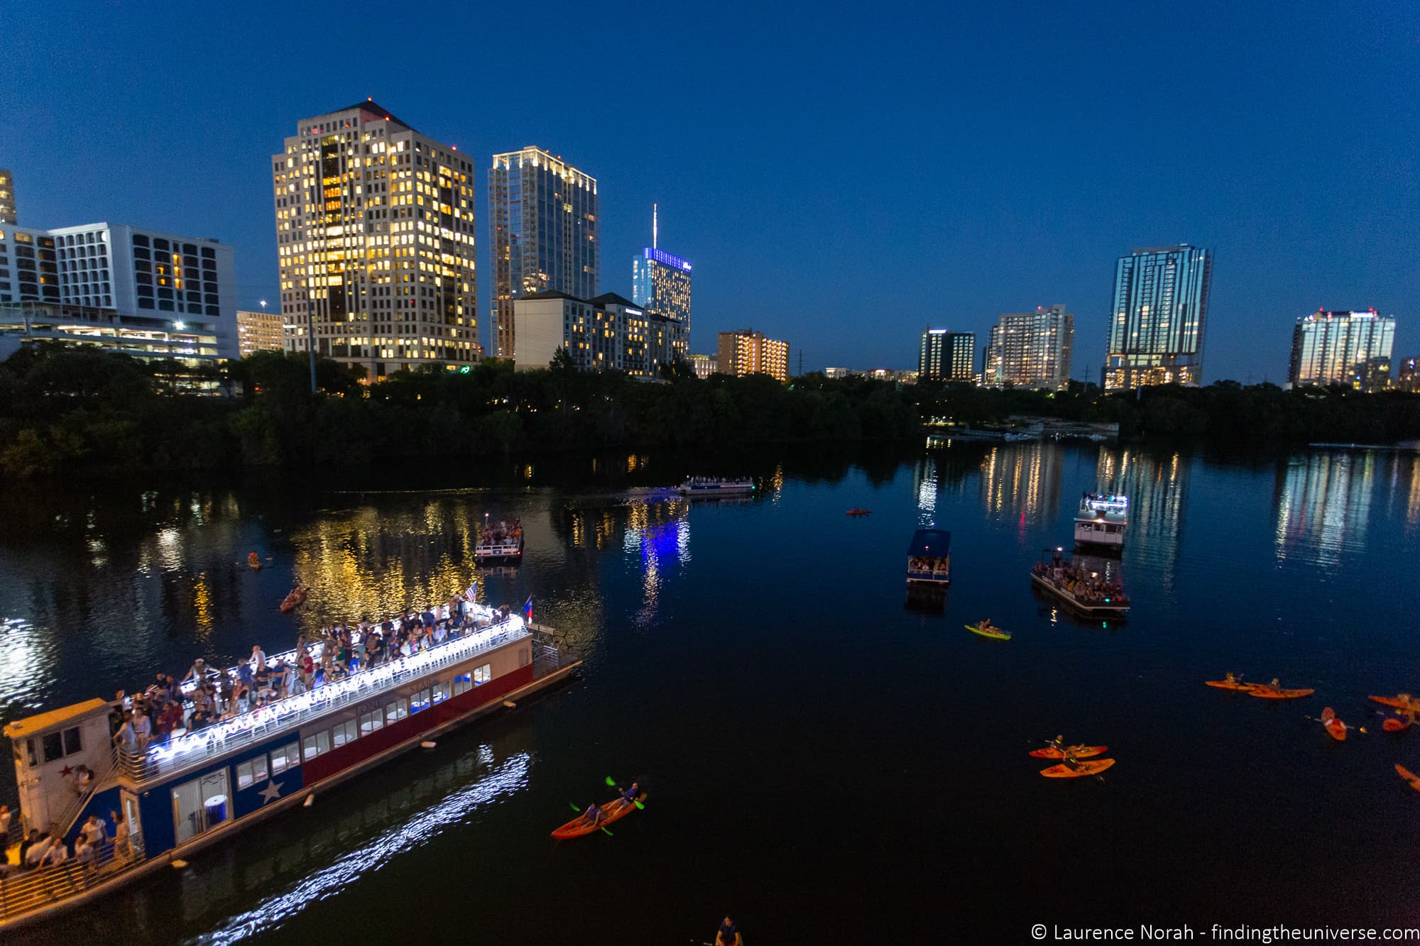
[[[10,3],[0,166],[20,222],[236,246],[277,300],[268,156],[373,97],[477,158],[599,182],[602,290],[660,202],[692,347],[753,325],[804,366],[916,366],[927,324],[1065,303],[1098,372],[1115,257],[1217,253],[1206,381],[1285,375],[1294,320],[1375,305],[1420,354],[1420,6]],[[798,362],[794,355],[795,368]]]

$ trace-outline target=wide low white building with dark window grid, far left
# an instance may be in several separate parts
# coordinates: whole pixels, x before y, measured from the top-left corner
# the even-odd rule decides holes
[[[0,227],[0,322],[13,338],[197,365],[237,357],[231,247],[88,223]]]

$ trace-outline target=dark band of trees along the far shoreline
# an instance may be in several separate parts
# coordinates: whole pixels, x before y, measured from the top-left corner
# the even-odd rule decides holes
[[[1230,445],[1394,443],[1420,436],[1420,395],[1349,388],[1284,391],[1234,381],[1103,392],[829,379],[809,372],[699,379],[670,365],[663,384],[579,372],[554,359],[514,371],[488,359],[467,374],[432,369],[364,385],[332,361],[257,352],[222,368],[170,365],[81,347],[21,348],[0,364],[0,473],[261,466],[364,466],[506,450],[743,449],[757,445],[912,442],[923,422],[985,425],[1034,415],[1118,423],[1123,439]],[[182,393],[195,382],[239,391]]]

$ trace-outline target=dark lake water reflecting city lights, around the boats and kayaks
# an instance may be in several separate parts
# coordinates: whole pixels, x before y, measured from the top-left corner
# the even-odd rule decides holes
[[[0,719],[132,689],[300,624],[467,585],[476,524],[520,516],[481,577],[585,658],[574,683],[439,740],[31,942],[1031,942],[1032,923],[1417,926],[1420,736],[1367,693],[1420,690],[1420,460],[1116,445],[893,456],[497,460],[390,482],[300,476],[13,496],[0,513]],[[657,486],[753,470],[753,501]],[[1126,491],[1127,624],[1030,585],[1079,493]],[[849,507],[872,509],[851,518]],[[953,531],[937,609],[914,528]],[[270,555],[253,574],[247,551]],[[275,605],[293,574],[300,616]],[[968,634],[990,615],[1010,642]],[[1224,670],[1312,686],[1268,702]],[[1335,743],[1308,716],[1366,726]],[[1105,743],[1047,780],[1042,737]],[[569,804],[639,778],[615,837]],[[0,800],[13,803],[13,778]],[[1136,933],[1137,935],[1137,933]]]

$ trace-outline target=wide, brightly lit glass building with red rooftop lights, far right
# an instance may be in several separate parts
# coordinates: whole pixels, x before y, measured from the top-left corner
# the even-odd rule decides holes
[[[1287,381],[1294,388],[1348,385],[1379,391],[1390,381],[1390,347],[1396,320],[1363,312],[1316,310],[1292,328],[1292,358]]]

